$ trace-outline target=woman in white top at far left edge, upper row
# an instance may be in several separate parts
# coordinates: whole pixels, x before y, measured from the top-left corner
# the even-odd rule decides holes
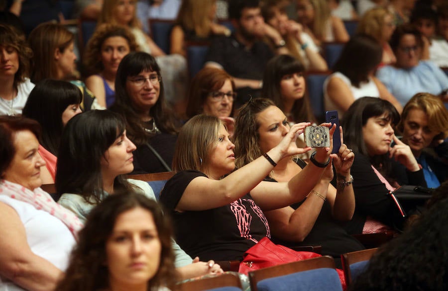
[[[31,49],[8,25],[0,25],[0,115],[22,113],[34,84],[28,78]]]

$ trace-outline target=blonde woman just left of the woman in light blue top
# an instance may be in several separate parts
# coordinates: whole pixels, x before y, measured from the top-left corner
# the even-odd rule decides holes
[[[368,10],[359,20],[356,33],[370,35],[383,48],[383,57],[379,66],[393,64],[397,61],[389,46],[389,40],[394,30],[393,15],[383,7]]]

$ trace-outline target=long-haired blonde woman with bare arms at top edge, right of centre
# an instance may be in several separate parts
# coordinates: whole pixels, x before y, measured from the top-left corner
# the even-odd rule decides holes
[[[350,38],[342,20],[331,15],[326,0],[297,0],[298,21],[305,32],[312,31],[316,44],[321,42],[347,42]]]

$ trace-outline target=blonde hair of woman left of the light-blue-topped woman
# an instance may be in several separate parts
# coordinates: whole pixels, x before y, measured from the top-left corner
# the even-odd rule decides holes
[[[383,7],[376,7],[367,10],[359,20],[356,33],[363,33],[375,38],[379,43],[383,40],[383,27],[385,25],[384,17],[392,14]]]

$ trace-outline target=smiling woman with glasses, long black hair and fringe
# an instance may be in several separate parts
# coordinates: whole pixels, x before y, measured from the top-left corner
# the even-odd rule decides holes
[[[137,146],[134,173],[170,171],[176,143],[176,120],[165,103],[164,84],[154,57],[133,52],[120,62],[115,79],[115,103],[126,133]]]

